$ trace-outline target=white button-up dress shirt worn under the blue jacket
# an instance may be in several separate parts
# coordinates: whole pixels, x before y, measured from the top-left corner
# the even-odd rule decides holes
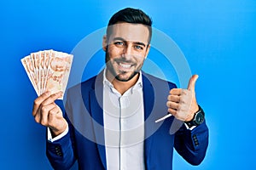
[[[143,170],[144,110],[143,81],[121,95],[103,78],[103,120],[107,168]]]

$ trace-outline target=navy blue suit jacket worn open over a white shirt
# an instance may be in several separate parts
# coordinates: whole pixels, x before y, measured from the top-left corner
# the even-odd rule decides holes
[[[198,165],[208,145],[206,122],[187,129],[173,116],[154,122],[166,115],[166,98],[172,82],[143,73],[143,104],[145,119],[144,160],[147,169],[172,169],[173,148],[179,155]],[[79,169],[106,169],[102,111],[102,72],[67,92],[65,117],[69,131],[63,138],[47,142],[47,156],[55,169],[69,169],[79,161]]]

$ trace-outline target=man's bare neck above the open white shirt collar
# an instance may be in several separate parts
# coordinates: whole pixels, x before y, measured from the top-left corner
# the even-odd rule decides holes
[[[113,84],[113,88],[115,88],[120,94],[123,95],[129,88],[131,88],[136,84],[139,78],[139,74],[135,75],[134,77],[131,78],[131,80],[127,82],[122,82],[117,80],[115,77],[113,77],[113,75],[109,71],[107,71],[106,77],[108,81]]]

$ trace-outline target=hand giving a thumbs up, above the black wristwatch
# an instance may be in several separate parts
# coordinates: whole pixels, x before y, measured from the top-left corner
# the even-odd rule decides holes
[[[191,121],[195,112],[199,110],[195,99],[195,82],[197,78],[198,75],[190,78],[188,89],[172,88],[170,90],[166,105],[168,112],[178,120]]]

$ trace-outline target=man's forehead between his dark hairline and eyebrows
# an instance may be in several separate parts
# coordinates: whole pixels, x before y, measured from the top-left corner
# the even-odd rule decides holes
[[[142,24],[119,23],[110,26],[110,30],[110,41],[118,37],[125,41],[144,42],[145,44],[148,44],[148,26],[144,26]]]

